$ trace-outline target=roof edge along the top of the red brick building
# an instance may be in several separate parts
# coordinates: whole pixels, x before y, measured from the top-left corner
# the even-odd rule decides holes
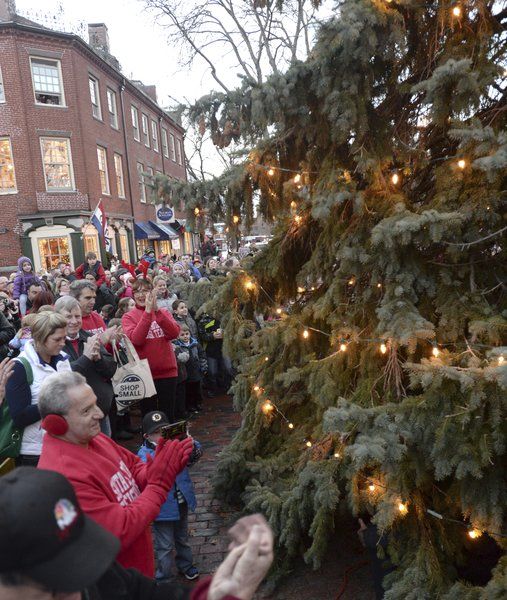
[[[74,42],[81,50],[87,52],[88,54],[91,54],[95,60],[100,61],[104,70],[113,72],[116,78],[121,80],[121,82],[123,82],[125,86],[128,87],[130,92],[137,94],[138,96],[142,96],[143,101],[149,104],[154,111],[158,112],[159,114],[162,114],[166,119],[168,119],[171,122],[172,125],[174,125],[176,129],[181,131],[181,133],[185,133],[185,129],[177,121],[175,121],[164,108],[162,108],[157,102],[155,102],[155,100],[153,100],[153,98],[146,94],[146,92],[143,92],[143,90],[141,90],[133,81],[125,77],[125,75],[119,69],[115,68],[113,65],[111,65],[111,63],[106,61],[100,55],[99,52],[97,52],[92,46],[90,46],[90,44],[87,44],[83,40],[83,38],[76,35],[75,33],[66,33],[63,31],[55,31],[54,29],[48,29],[47,27],[39,25],[38,23],[31,21],[30,19],[26,19],[25,17],[21,17],[20,15],[15,15],[14,21],[0,21],[0,30],[9,28],[37,33],[39,35],[63,38]]]

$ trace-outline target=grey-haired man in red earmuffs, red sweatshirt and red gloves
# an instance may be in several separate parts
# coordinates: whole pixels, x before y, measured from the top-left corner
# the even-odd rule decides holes
[[[144,464],[100,433],[104,415],[85,378],[75,372],[45,380],[39,410],[48,432],[39,467],[65,475],[83,511],[119,538],[122,566],[153,577],[149,526],[188,462],[192,439],[157,445],[153,461]]]

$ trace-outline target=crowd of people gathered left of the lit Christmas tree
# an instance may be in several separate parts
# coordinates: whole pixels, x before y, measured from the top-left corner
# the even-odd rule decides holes
[[[62,540],[75,537],[71,530],[78,521],[80,530],[90,528],[83,525],[90,517],[98,524],[93,535],[103,540],[107,554],[93,576],[93,569],[85,576],[83,567],[80,578],[76,566],[75,576],[62,573],[59,578],[54,573],[58,556],[50,569],[54,577],[46,576],[43,548],[40,566],[34,569],[38,563],[31,559],[9,565],[0,547],[2,598],[21,598],[19,590],[32,585],[42,585],[48,593],[76,594],[94,586],[96,595],[91,597],[97,598],[161,598],[159,589],[165,590],[164,598],[190,597],[174,577],[175,569],[188,580],[199,577],[188,544],[187,517],[196,505],[189,467],[202,448],[185,434],[167,440],[163,430],[192,418],[205,397],[226,391],[233,367],[223,353],[219,319],[202,314],[196,321],[179,297],[178,285],[198,284],[238,266],[235,258],[221,262],[210,239],[202,250],[202,258],[162,255],[156,260],[147,248],[137,265],[113,258],[109,269],[89,252],[75,269],[61,263],[49,273],[35,273],[30,259],[21,257],[17,272],[0,276],[0,400],[8,408],[1,413],[0,426],[10,419],[20,436],[17,468],[0,478],[0,512],[4,514],[2,498],[10,498],[16,489],[21,505],[23,493],[35,486],[54,497],[53,481],[67,490],[53,507]],[[128,353],[129,344],[146,359],[156,392],[134,405],[141,412],[141,428],[130,419],[132,407],[119,410],[115,402],[118,357]],[[136,433],[143,436],[138,456],[117,443]],[[60,479],[50,472],[59,473]],[[37,492],[33,502],[39,500]],[[42,504],[37,510],[44,529],[52,515]],[[269,527],[260,516],[252,519],[233,528],[230,555],[191,597],[252,597],[272,559]],[[23,535],[27,547],[31,535],[35,545],[42,543],[37,532]],[[67,552],[64,545],[62,541],[62,554]],[[107,588],[107,582],[101,583],[106,573],[123,581],[124,596],[117,590],[117,595],[100,591],[103,585]],[[154,577],[157,585],[151,582]],[[136,595],[126,581],[151,591]]]

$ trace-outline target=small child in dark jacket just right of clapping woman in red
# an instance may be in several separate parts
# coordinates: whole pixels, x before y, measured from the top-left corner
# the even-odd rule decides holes
[[[180,325],[180,334],[174,342],[176,347],[176,357],[178,352],[188,352],[188,360],[185,363],[186,380],[185,386],[185,408],[187,413],[196,413],[202,410],[202,389],[201,384],[204,376],[208,372],[208,362],[206,354],[201,344],[191,337],[190,329],[185,325]]]

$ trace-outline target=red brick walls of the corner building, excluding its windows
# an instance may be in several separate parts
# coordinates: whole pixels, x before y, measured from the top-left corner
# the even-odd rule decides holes
[[[64,106],[35,102],[30,57],[59,61]],[[0,68],[5,90],[5,102],[0,102],[0,138],[10,140],[17,188],[15,193],[0,190],[0,268],[14,265],[20,253],[34,247],[30,234],[39,225],[47,228],[58,222],[67,226],[68,221],[79,233],[79,220],[86,223],[99,200],[110,224],[127,231],[129,238],[134,221],[155,220],[149,199],[146,204],[140,201],[137,163],[143,164],[145,172],[151,168],[175,178],[185,179],[186,172],[184,164],[171,159],[170,149],[169,157],[162,151],[162,128],[180,140],[181,147],[184,131],[150,96],[79,37],[26,22],[0,22]],[[101,119],[92,114],[90,76],[98,83]],[[118,129],[110,124],[108,88],[115,93]],[[134,140],[131,106],[138,109],[139,142]],[[142,114],[148,117],[149,148],[143,142]],[[158,152],[152,147],[152,122],[156,123]],[[46,190],[43,137],[69,140],[74,190]],[[106,151],[109,194],[101,190],[97,146]],[[115,153],[121,156],[125,198],[117,190]],[[183,158],[180,162],[184,163]]]

